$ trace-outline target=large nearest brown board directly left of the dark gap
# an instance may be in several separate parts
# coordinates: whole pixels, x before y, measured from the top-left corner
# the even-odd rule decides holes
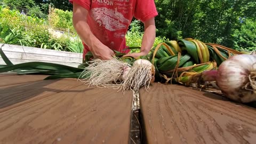
[[[132,93],[81,85],[0,113],[0,143],[128,143]]]

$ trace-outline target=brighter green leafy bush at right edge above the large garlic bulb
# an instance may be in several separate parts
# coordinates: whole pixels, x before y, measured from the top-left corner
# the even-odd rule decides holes
[[[235,49],[238,51],[256,50],[256,21],[247,19],[241,29],[234,31]]]

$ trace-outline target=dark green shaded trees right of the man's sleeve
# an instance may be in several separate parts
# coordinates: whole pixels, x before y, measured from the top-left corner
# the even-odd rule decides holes
[[[252,0],[181,1],[156,0],[157,36],[169,39],[196,38],[233,47],[233,34],[241,19],[255,20],[256,2]]]

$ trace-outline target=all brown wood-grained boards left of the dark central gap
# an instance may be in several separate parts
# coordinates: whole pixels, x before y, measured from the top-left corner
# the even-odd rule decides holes
[[[0,143],[129,142],[130,92],[44,77],[1,77]]]

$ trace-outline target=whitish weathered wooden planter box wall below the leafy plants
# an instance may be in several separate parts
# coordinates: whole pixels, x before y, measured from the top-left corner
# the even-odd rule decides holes
[[[59,63],[61,65],[78,67],[82,63],[83,54],[65,51],[55,51],[49,49],[41,49],[36,47],[27,47],[20,45],[10,45],[0,43],[0,47],[4,51],[7,58],[15,65],[18,63],[43,61],[51,63]],[[5,65],[0,55],[0,65]]]

